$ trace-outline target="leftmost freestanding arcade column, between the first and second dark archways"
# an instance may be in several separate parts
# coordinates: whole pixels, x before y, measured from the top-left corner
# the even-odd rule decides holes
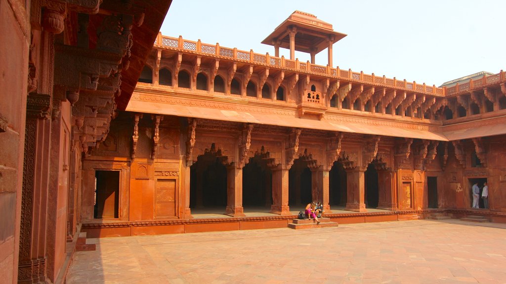
[[[242,208],[242,168],[227,167],[227,215],[246,216]]]

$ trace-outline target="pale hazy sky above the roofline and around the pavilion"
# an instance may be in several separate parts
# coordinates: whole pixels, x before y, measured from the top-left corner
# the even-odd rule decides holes
[[[504,0],[173,0],[161,32],[274,55],[273,46],[260,42],[295,10],[348,34],[333,45],[334,68],[436,86],[506,69]],[[289,58],[287,50],[280,55]],[[327,64],[326,50],[316,64]]]

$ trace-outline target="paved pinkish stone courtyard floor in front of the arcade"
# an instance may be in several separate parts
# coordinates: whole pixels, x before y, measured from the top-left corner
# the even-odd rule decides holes
[[[506,224],[412,220],[92,239],[67,283],[506,283]]]

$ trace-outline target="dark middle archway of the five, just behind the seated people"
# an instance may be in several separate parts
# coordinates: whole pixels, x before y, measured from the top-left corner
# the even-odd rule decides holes
[[[306,206],[312,201],[311,170],[307,162],[297,159],[288,171],[288,205]]]

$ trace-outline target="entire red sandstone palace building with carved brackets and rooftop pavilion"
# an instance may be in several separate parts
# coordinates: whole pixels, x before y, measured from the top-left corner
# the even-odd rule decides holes
[[[80,232],[286,227],[312,200],[341,223],[506,221],[502,71],[436,87],[334,68],[346,35],[298,11],[263,41],[274,56],[167,37],[169,6],[0,0],[7,283],[63,282]]]

